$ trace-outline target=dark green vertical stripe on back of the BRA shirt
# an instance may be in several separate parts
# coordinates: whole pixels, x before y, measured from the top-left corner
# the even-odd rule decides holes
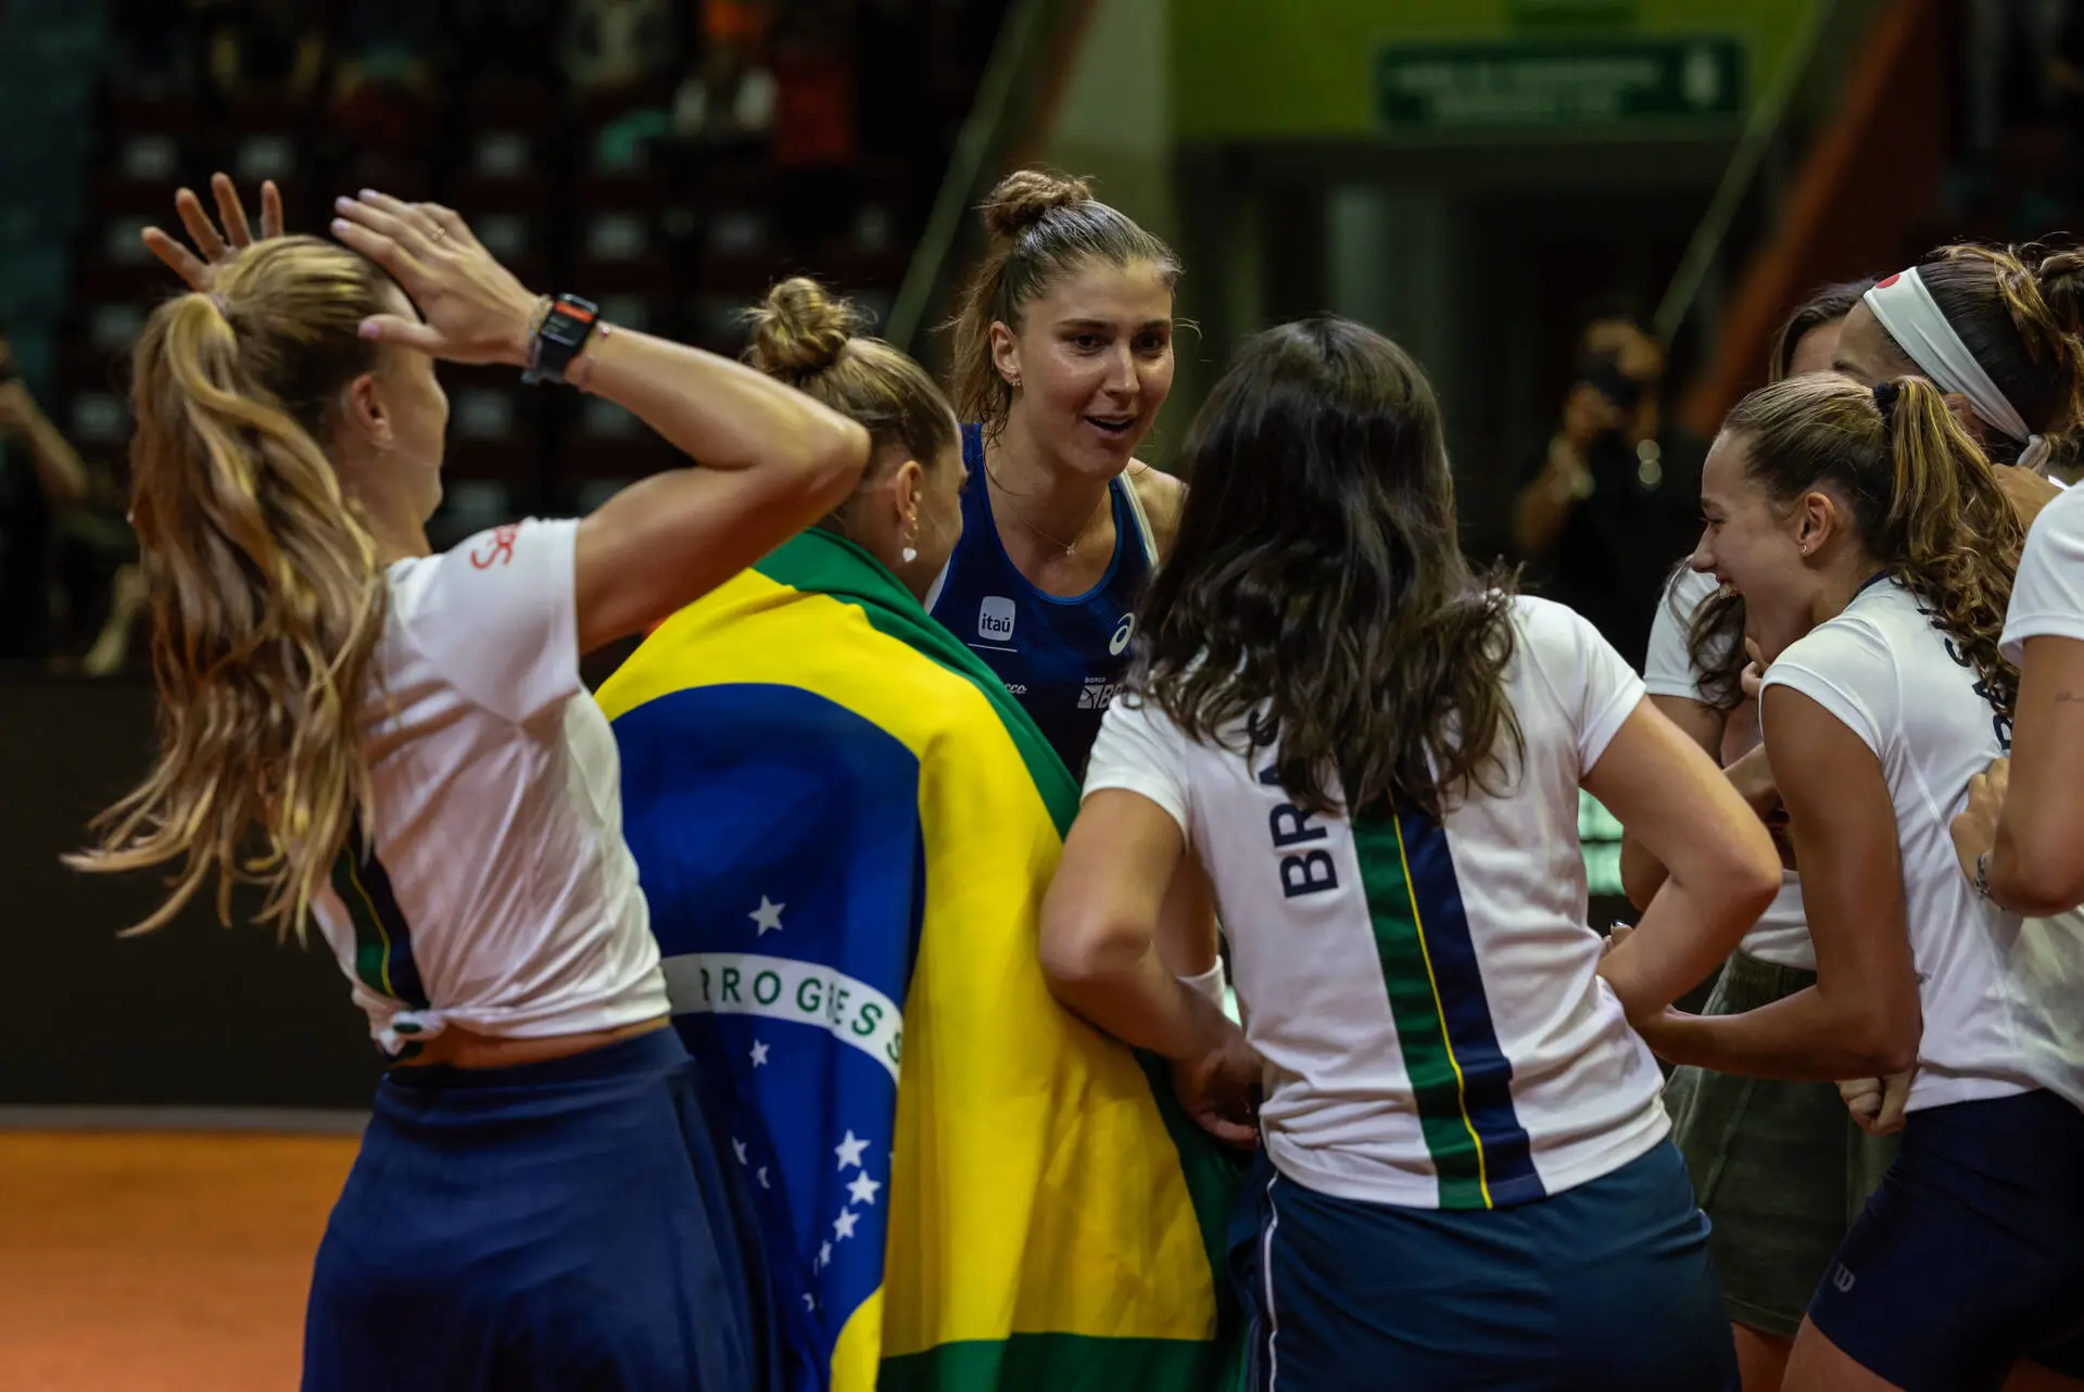
[[[1461,1073],[1440,1019],[1440,996],[1425,952],[1423,923],[1405,867],[1394,811],[1353,819],[1353,850],[1361,861],[1367,917],[1375,929],[1382,984],[1403,1046],[1405,1073],[1417,1098],[1425,1150],[1440,1173],[1442,1209],[1488,1209],[1484,1157],[1463,1109]]]

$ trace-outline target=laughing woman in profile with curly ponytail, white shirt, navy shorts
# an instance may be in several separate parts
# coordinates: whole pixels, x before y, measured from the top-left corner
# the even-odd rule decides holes
[[[2011,740],[2001,650],[2021,527],[1924,377],[1790,377],[1709,452],[1694,567],[1744,596],[1761,725],[1815,944],[1815,986],[1642,1019],[1673,1063],[1865,1090],[1903,1148],[1817,1286],[1790,1392],[1974,1392],[2084,1352],[2084,1052],[2061,981],[2076,923],[2021,919],[1955,869],[1949,821]],[[2053,1369],[2053,1371],[2051,1371]],[[2055,1379],[2055,1382],[2049,1382]]]

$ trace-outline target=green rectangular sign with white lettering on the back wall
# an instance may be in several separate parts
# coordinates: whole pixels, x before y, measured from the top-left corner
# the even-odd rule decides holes
[[[1726,35],[1567,44],[1392,44],[1375,60],[1392,127],[1619,125],[1738,117],[1744,46]]]

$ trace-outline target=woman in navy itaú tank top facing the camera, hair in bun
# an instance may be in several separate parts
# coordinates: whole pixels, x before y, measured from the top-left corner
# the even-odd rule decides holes
[[[954,329],[963,540],[927,608],[1036,717],[1073,777],[1130,661],[1180,481],[1136,458],[1173,377],[1180,258],[1082,179],[1021,171]]]

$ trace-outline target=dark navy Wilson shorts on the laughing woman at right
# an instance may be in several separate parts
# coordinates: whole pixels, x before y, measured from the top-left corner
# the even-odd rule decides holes
[[[2084,1375],[2084,1113],[2053,1092],[1913,1111],[1809,1319],[1905,1392]]]

